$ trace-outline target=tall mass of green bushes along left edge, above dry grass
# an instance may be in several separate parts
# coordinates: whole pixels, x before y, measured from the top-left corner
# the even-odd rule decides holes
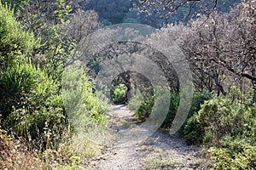
[[[0,4],[0,115],[1,126],[38,147],[57,147],[67,125],[59,86],[31,64],[38,45],[22,31],[14,10]]]

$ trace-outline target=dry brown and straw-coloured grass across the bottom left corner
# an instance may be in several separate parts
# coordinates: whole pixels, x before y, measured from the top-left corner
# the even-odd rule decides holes
[[[61,143],[59,150],[47,149],[38,156],[28,149],[24,140],[13,139],[0,129],[0,169],[3,170],[83,169],[80,164],[101,150],[102,146],[76,134]]]

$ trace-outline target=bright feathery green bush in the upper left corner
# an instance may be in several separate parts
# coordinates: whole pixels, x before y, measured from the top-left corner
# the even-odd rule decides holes
[[[9,65],[22,56],[29,56],[37,45],[33,34],[22,31],[14,11],[0,4],[0,65]]]

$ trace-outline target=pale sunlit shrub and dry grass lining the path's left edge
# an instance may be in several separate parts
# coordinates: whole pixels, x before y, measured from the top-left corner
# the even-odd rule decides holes
[[[72,136],[62,141],[60,150],[63,161],[72,167],[79,167],[73,158],[84,160],[101,150],[99,145],[91,141],[108,142],[108,133],[105,131],[108,127],[108,117],[105,114],[108,111],[107,100],[101,94],[93,94],[93,86],[84,71],[75,65],[68,66],[63,72],[62,97],[71,122]],[[97,96],[101,96],[101,99]]]

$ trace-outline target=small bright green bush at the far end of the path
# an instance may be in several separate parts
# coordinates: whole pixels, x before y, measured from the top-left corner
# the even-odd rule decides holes
[[[115,87],[112,87],[110,93],[112,94],[112,100],[114,104],[122,104],[126,102],[127,87],[125,84],[119,84]]]

